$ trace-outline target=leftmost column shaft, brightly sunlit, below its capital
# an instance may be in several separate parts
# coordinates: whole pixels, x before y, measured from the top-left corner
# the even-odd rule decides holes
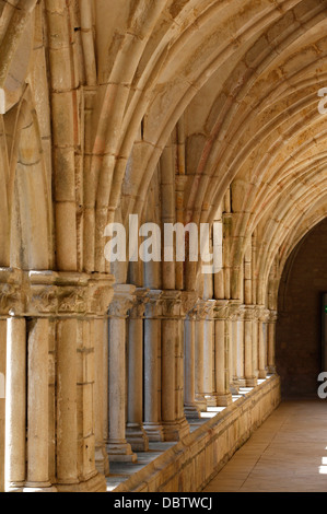
[[[21,491],[26,480],[26,322],[7,322],[5,491]]]

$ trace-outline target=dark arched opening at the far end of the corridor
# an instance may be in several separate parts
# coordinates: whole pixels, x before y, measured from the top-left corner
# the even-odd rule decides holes
[[[295,246],[278,294],[276,366],[283,398],[318,398],[323,364],[323,296],[327,292],[327,218]]]

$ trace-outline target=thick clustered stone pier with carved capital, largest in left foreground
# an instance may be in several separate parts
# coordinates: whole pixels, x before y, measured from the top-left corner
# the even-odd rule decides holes
[[[101,492],[106,490],[106,457],[101,416],[104,386],[100,382],[104,367],[98,352],[104,354],[101,347],[106,343],[113,277],[72,272],[56,276],[56,487],[59,492]]]

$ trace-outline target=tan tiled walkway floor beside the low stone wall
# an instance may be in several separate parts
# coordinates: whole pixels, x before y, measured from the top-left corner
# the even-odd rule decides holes
[[[205,492],[327,492],[327,400],[284,401]]]

